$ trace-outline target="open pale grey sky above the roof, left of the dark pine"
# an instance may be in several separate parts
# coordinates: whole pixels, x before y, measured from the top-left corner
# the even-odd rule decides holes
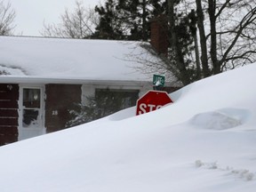
[[[43,23],[59,23],[60,15],[67,8],[72,12],[76,0],[4,0],[4,3],[10,2],[12,9],[16,12],[15,35],[23,36],[41,36],[40,30]],[[85,7],[93,8],[96,4],[104,0],[79,0],[84,2]]]

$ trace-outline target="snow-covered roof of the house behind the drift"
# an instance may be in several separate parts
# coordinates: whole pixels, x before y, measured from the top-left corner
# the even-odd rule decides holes
[[[111,40],[0,36],[0,71],[4,71],[0,82],[151,82],[152,73],[144,73],[137,60],[148,57],[140,44]],[[153,55],[150,57],[157,60]]]

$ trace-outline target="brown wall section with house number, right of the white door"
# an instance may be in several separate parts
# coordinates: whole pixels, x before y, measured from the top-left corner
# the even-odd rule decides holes
[[[81,84],[46,84],[45,94],[46,132],[56,132],[71,120],[68,111],[81,103]]]

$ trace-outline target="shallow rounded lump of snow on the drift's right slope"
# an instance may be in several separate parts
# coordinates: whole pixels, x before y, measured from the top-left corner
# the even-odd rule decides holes
[[[226,130],[244,124],[249,112],[238,108],[224,108],[197,114],[190,120],[191,124],[204,129]]]

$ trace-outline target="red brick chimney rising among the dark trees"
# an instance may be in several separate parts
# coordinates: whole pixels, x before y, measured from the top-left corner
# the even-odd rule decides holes
[[[168,52],[168,25],[165,15],[159,15],[150,23],[150,43],[158,54],[167,56]]]

